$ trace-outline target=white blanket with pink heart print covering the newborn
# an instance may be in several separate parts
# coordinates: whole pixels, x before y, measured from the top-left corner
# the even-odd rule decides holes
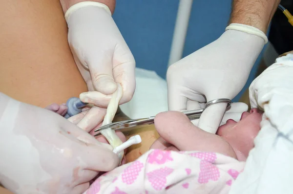
[[[214,152],[150,150],[103,174],[84,194],[228,194],[244,165]]]

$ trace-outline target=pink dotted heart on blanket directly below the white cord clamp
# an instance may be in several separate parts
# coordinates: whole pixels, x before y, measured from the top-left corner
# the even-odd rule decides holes
[[[139,172],[144,168],[144,164],[140,161],[133,162],[122,173],[122,182],[130,185],[137,179]]]

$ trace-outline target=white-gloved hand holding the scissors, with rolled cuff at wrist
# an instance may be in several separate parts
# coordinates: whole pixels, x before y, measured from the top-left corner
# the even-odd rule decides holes
[[[197,109],[206,101],[234,98],[266,42],[266,35],[257,28],[230,24],[219,39],[171,65],[167,71],[169,110]],[[226,106],[207,108],[198,127],[215,133]]]

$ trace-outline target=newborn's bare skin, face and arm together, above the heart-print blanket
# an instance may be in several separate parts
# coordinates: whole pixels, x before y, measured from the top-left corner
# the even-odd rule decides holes
[[[218,128],[217,134],[212,134],[194,126],[181,112],[162,112],[155,117],[155,127],[161,137],[151,149],[210,151],[246,161],[254,147],[261,119],[262,112],[253,108],[243,112],[239,122],[230,119]]]

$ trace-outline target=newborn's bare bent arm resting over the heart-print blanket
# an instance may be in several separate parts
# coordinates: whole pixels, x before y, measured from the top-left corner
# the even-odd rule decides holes
[[[236,158],[228,142],[218,135],[194,126],[182,112],[159,113],[155,117],[155,128],[161,138],[151,146],[151,149],[164,149],[171,144],[180,151],[210,151]]]

